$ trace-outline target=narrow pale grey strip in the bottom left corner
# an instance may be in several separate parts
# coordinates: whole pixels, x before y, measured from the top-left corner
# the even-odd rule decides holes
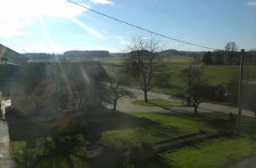
[[[0,120],[0,167],[14,168],[14,158],[10,149],[10,138],[6,122]]]

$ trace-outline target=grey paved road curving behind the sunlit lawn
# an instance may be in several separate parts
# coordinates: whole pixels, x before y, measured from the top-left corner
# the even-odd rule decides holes
[[[137,99],[143,99],[144,95],[142,90],[130,89],[137,96]],[[166,94],[158,94],[154,92],[148,92],[148,98],[162,98],[166,100],[182,101],[178,98],[170,97]],[[122,98],[118,100],[117,110],[122,112],[174,112],[174,113],[194,113],[194,108],[189,106],[182,107],[160,107],[160,106],[138,106],[132,104],[133,100],[130,98]],[[109,106],[111,108],[111,106]],[[222,106],[213,103],[202,103],[199,106],[198,113],[200,112],[223,112],[226,114],[238,114],[238,108],[232,106]],[[250,110],[242,110],[242,114],[250,117],[254,117],[254,113]]]

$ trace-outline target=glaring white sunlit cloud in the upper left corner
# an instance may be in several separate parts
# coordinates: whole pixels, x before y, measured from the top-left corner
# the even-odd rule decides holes
[[[0,0],[0,4],[0,37],[26,35],[24,27],[39,17],[70,18],[86,10],[65,0]]]

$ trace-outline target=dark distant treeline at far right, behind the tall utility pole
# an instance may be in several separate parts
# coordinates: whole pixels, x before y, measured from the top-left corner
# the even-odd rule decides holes
[[[203,55],[202,62],[206,65],[239,65],[241,52],[218,50],[206,52]],[[256,51],[246,51],[244,54],[244,64],[256,65]]]

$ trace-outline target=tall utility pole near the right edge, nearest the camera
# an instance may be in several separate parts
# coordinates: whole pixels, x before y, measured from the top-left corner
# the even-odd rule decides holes
[[[240,57],[240,73],[239,73],[239,90],[238,90],[238,135],[240,135],[241,130],[241,114],[242,114],[242,74],[243,74],[243,60],[244,60],[245,50],[241,50]]]

